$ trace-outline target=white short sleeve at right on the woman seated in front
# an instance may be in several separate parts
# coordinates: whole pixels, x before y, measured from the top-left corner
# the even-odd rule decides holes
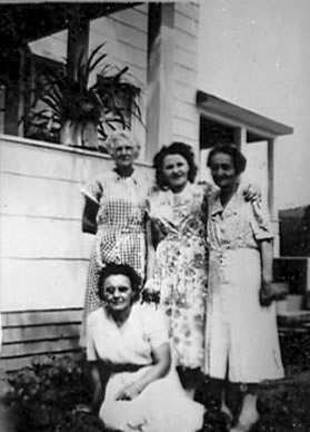
[[[163,313],[151,305],[146,305],[146,332],[151,348],[156,350],[164,343],[169,343],[168,325]]]

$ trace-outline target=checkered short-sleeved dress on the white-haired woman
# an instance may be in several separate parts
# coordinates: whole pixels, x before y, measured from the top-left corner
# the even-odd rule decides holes
[[[101,306],[98,296],[100,269],[108,263],[129,264],[146,275],[146,208],[149,181],[133,171],[121,177],[116,170],[106,173],[89,184],[82,193],[99,204],[98,232],[92,247],[84,318]]]

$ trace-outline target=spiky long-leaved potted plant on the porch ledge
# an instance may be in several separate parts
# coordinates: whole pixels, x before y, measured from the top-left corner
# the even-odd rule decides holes
[[[98,148],[98,134],[104,140],[117,125],[130,128],[129,117],[141,121],[136,101],[139,89],[127,80],[128,67],[119,70],[106,63],[107,53],[98,46],[87,61],[78,58],[74,78],[68,67],[47,66],[36,89],[30,112],[24,118],[26,130],[49,131],[61,144]],[[98,71],[96,77],[96,71]],[[91,81],[91,79],[94,82]],[[41,108],[38,108],[41,106]]]

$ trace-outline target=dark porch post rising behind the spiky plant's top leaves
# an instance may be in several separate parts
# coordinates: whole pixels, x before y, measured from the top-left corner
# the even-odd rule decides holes
[[[76,78],[77,62],[83,52],[83,60],[88,59],[89,49],[89,21],[82,19],[80,6],[72,6],[68,26],[67,65],[68,76]]]

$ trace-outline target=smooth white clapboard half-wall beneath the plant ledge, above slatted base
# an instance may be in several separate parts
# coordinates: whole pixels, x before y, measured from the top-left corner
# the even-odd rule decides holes
[[[112,161],[6,136],[0,151],[1,308],[82,306],[94,237],[81,232],[80,186]],[[151,184],[150,166],[137,170]]]

